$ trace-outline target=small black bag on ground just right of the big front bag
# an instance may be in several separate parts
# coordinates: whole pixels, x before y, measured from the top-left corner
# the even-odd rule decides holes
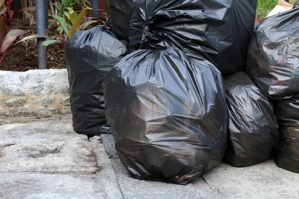
[[[224,78],[228,107],[228,147],[224,160],[246,167],[276,152],[279,128],[273,104],[244,72]]]

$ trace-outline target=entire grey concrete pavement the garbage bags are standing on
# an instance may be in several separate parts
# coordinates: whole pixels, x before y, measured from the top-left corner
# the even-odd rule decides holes
[[[88,140],[70,120],[0,126],[0,199],[299,199],[299,174],[273,160],[222,163],[179,186],[131,178],[111,135]]]

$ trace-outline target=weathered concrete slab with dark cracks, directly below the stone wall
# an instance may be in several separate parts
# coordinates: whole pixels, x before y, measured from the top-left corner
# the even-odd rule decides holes
[[[100,168],[86,135],[70,122],[42,121],[0,126],[0,173],[96,173]]]

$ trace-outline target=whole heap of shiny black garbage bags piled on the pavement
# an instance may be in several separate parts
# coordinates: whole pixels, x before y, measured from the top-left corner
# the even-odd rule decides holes
[[[186,185],[271,157],[299,172],[299,8],[255,27],[256,6],[110,0],[66,44],[74,130],[111,132],[139,179]]]

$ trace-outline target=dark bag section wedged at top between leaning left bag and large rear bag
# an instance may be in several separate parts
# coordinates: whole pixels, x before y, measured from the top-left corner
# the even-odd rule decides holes
[[[109,0],[111,25],[114,34],[129,41],[130,23],[134,11],[133,0]]]

